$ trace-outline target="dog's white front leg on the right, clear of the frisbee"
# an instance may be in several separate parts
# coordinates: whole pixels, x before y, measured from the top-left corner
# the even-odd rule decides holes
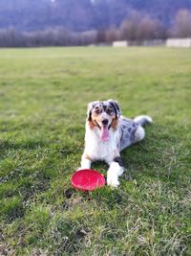
[[[112,187],[117,187],[119,185],[118,176],[122,175],[123,172],[122,160],[120,156],[117,156],[110,163],[110,168],[107,172],[107,184]]]

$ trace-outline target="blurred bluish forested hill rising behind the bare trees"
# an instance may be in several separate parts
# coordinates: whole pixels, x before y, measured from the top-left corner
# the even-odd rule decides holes
[[[134,11],[148,13],[168,27],[180,9],[191,10],[191,0],[1,0],[0,29],[106,29],[119,26]]]

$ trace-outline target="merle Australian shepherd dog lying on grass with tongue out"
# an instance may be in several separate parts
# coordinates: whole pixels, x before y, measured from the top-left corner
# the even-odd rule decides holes
[[[118,176],[124,172],[120,151],[141,141],[145,136],[142,126],[152,123],[150,116],[134,119],[121,116],[117,101],[96,101],[88,105],[85,132],[85,149],[81,157],[81,169],[90,169],[97,160],[109,165],[107,184],[119,185]]]

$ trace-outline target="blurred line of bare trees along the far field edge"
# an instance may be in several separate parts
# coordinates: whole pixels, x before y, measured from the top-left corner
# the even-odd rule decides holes
[[[170,28],[142,12],[132,12],[118,27],[74,33],[65,29],[18,32],[14,28],[0,30],[0,47],[82,46],[111,44],[116,40],[141,42],[167,37],[191,37],[191,12],[180,10]]]

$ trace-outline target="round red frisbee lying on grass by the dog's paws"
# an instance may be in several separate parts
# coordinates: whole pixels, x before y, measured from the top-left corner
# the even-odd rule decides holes
[[[82,191],[92,191],[105,185],[104,176],[92,169],[75,172],[71,181],[75,189]]]

